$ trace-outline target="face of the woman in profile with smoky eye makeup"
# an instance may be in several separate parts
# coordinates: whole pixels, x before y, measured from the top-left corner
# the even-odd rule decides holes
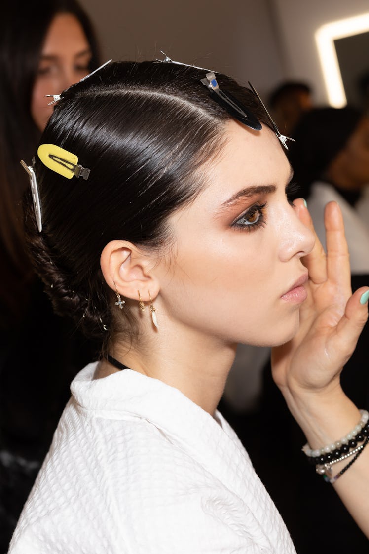
[[[314,238],[289,204],[290,166],[277,137],[237,122],[207,186],[170,218],[173,259],[162,271],[170,319],[231,342],[276,345],[298,329]]]

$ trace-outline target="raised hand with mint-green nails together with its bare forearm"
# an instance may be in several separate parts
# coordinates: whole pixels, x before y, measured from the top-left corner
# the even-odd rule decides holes
[[[295,206],[302,222],[314,230],[303,201]],[[369,287],[351,293],[349,253],[336,202],[327,204],[324,220],[327,254],[315,235],[315,247],[303,259],[309,281],[299,331],[291,341],[272,349],[274,381],[314,449],[340,440],[360,420],[358,408],[364,407],[355,406],[346,396],[340,373],[368,317]],[[336,473],[345,466],[346,460],[335,464]],[[309,470],[314,469],[306,461]],[[333,486],[369,538],[369,445]]]

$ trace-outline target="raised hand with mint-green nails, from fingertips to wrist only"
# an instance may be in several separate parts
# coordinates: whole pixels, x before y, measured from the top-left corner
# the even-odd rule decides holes
[[[303,201],[295,204],[299,218],[315,234]],[[349,252],[336,202],[325,208],[325,228],[327,254],[315,234],[315,246],[303,259],[309,281],[305,285],[308,298],[300,308],[299,331],[292,341],[272,350],[274,381],[287,394],[336,392],[342,367],[368,317],[367,304],[360,299],[365,300],[363,294],[369,288],[351,293]]]

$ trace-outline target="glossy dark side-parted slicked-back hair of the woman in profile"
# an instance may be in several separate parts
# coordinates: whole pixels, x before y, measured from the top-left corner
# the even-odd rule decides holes
[[[201,167],[224,145],[232,118],[210,98],[203,77],[172,63],[110,63],[63,93],[41,138],[91,170],[87,181],[66,179],[37,157],[41,233],[29,194],[25,213],[29,249],[56,312],[74,316],[89,335],[134,332],[129,301],[115,320],[115,296],[100,268],[105,245],[170,245],[168,217],[201,191]],[[250,90],[217,79],[267,124]]]

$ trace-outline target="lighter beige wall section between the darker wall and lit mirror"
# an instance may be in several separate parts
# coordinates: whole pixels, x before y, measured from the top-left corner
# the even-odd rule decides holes
[[[314,33],[324,23],[369,12],[368,0],[271,0],[286,78],[308,80],[318,103],[328,101]],[[368,57],[369,53],[363,53]]]

